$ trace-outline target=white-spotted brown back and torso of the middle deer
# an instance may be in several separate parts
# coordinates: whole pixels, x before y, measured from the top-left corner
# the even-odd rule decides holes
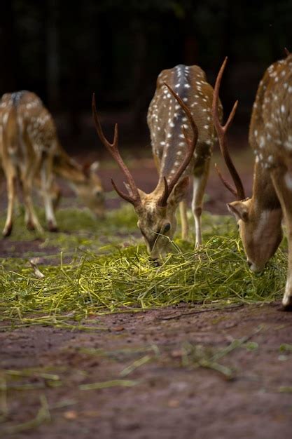
[[[204,71],[195,65],[177,65],[173,69],[162,70],[147,115],[153,154],[160,163],[160,180],[176,172],[186,152],[182,127],[185,126],[188,135],[191,135],[186,114],[165,83],[188,105],[198,130],[194,160],[183,175],[190,175],[194,167],[209,158],[216,140],[211,116],[213,88],[207,82]]]

